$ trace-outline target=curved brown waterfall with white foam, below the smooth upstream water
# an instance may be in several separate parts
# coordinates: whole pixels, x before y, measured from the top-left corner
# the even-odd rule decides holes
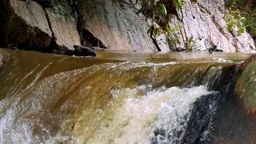
[[[0,101],[0,141],[179,141],[191,104],[210,93],[207,82],[218,83],[228,65],[214,58],[118,62],[55,74]],[[199,85],[206,87],[193,87]]]

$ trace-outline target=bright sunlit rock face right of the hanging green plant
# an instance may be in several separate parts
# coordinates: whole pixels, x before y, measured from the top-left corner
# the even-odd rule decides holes
[[[253,39],[248,33],[234,37],[228,32],[224,17],[224,1],[199,0],[188,1],[173,21],[182,23],[183,43],[193,37],[200,50],[218,45],[223,52],[256,52]],[[182,45],[184,47],[184,45]]]

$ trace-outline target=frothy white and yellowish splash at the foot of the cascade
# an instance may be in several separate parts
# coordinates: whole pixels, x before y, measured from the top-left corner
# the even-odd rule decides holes
[[[173,143],[182,139],[193,103],[211,94],[203,86],[193,88],[139,86],[111,91],[113,99],[104,109],[95,111],[93,125],[83,127],[85,115],[73,119],[79,123],[70,143]],[[110,112],[111,111],[111,112]],[[86,113],[86,110],[84,110]],[[82,121],[81,121],[82,120]],[[83,121],[84,120],[84,121]],[[94,135],[88,135],[88,130]],[[67,137],[51,137],[49,143]]]

